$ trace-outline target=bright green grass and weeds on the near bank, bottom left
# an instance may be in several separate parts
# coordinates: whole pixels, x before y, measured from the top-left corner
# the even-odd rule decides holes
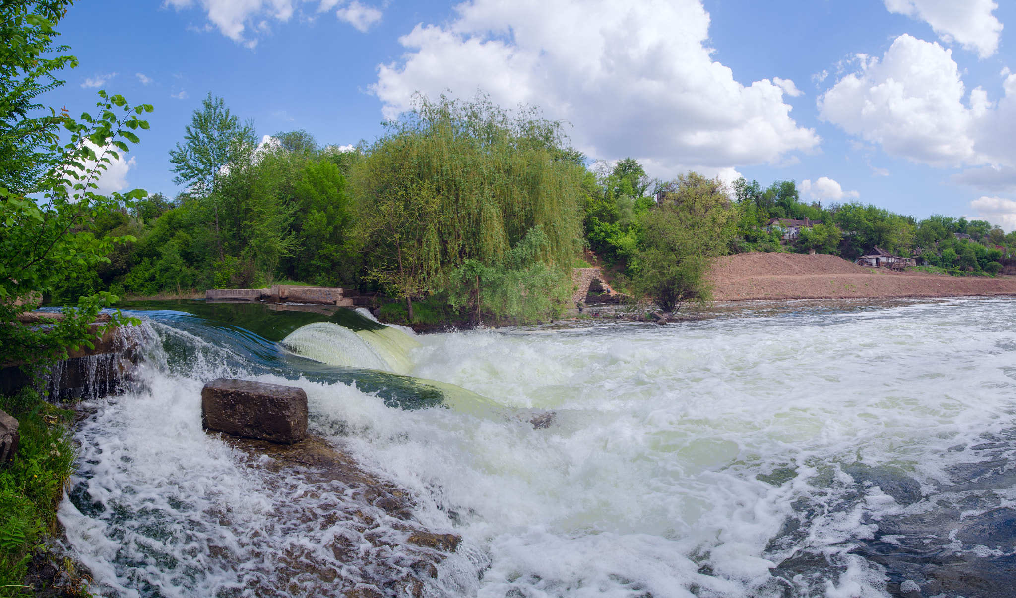
[[[24,586],[28,561],[44,534],[57,531],[56,508],[77,460],[74,412],[30,389],[0,396],[0,409],[18,420],[21,435],[14,462],[0,466],[0,598],[34,596]]]

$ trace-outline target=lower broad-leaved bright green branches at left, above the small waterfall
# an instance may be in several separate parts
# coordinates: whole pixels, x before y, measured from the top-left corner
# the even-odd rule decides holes
[[[31,188],[43,193],[41,201],[0,189],[0,362],[23,361],[26,355],[45,362],[66,355],[68,346],[90,344],[85,323],[117,298],[94,288],[94,269],[109,262],[107,254],[116,244],[134,239],[97,238],[86,224],[145,195],[134,190],[106,197],[96,190],[99,175],[119,157],[113,148],[125,150],[125,141],[138,141],[130,129],[148,128],[137,117],[151,107],[131,107],[122,96],[105,91],[100,95],[100,117],[63,117],[69,142],[49,147],[48,159],[57,167],[31,182]],[[88,281],[68,280],[80,277]],[[77,308],[65,309],[64,323],[52,332],[10,324],[34,303],[30,297],[75,288],[83,296],[71,297]],[[15,301],[19,297],[26,300],[23,305]]]

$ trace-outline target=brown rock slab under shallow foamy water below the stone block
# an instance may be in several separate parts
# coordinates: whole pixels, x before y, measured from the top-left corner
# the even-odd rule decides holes
[[[270,485],[292,487],[276,507],[278,533],[299,538],[250,588],[258,595],[400,598],[449,595],[440,568],[461,558],[461,536],[415,521],[412,495],[363,470],[340,449],[308,434],[295,445],[223,435],[250,456]],[[268,457],[265,459],[264,457]]]

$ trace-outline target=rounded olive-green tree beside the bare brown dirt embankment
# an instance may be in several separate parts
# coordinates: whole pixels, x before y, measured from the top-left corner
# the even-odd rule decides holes
[[[737,210],[725,185],[697,173],[664,186],[659,205],[640,221],[632,286],[671,313],[687,302],[712,298],[707,273],[726,253],[736,232]]]

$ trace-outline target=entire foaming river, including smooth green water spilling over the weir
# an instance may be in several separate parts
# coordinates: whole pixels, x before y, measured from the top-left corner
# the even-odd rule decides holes
[[[194,306],[135,312],[151,341],[136,388],[85,404],[60,521],[104,595],[302,595],[277,563],[341,533],[279,515],[340,496],[267,483],[202,431],[200,390],[220,376],[305,389],[313,431],[412,491],[417,521],[463,537],[429,595],[1012,587],[1012,300],[741,304],[665,326],[411,338]]]

